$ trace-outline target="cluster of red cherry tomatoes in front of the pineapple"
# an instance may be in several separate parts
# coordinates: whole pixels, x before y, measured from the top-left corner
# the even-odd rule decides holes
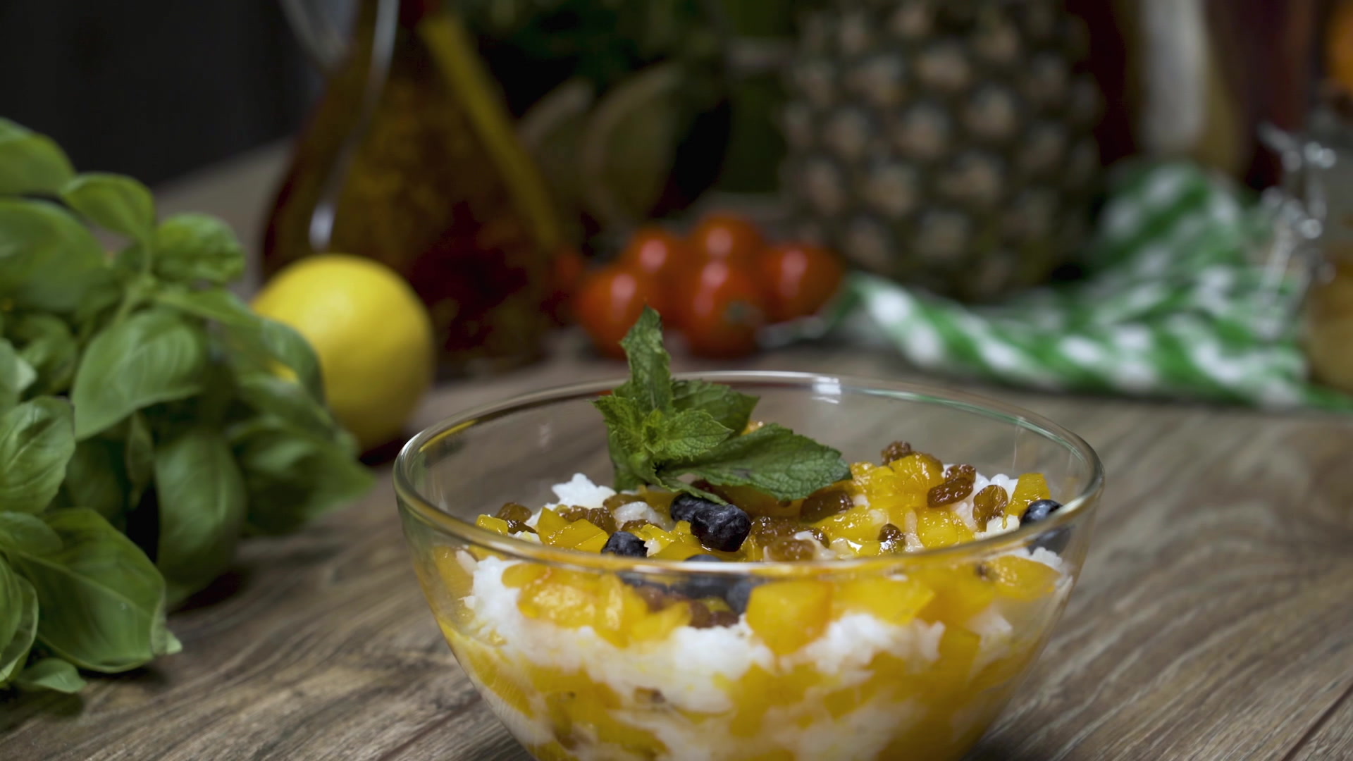
[[[624,356],[620,340],[647,303],[691,353],[735,357],[756,349],[762,326],[820,310],[842,275],[821,246],[769,244],[750,221],[712,213],[686,237],[636,232],[614,264],[582,276],[572,311],[607,356]]]

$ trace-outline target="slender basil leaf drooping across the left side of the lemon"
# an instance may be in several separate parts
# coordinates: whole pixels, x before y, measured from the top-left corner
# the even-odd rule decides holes
[[[165,306],[225,326],[231,364],[271,371],[273,363],[280,363],[296,374],[317,402],[323,404],[325,386],[319,357],[294,328],[256,314],[239,301],[239,297],[223,288],[202,291],[166,288],[156,298]]]

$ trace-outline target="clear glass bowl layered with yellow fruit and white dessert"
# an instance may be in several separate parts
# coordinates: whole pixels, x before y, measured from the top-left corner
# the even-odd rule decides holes
[[[847,462],[878,463],[907,440],[984,475],[1042,473],[1063,508],[967,543],[844,561],[691,563],[528,543],[476,516],[579,500],[551,493],[575,474],[610,483],[591,401],[618,382],[483,406],[423,431],[395,464],[423,593],[479,693],[543,760],[961,757],[1081,571],[1103,487],[1093,450],[1039,416],[942,389],[687,378],[760,397],[755,420]]]

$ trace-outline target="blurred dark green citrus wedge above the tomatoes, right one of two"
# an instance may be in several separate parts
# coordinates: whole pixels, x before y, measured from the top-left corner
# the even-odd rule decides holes
[[[582,134],[583,202],[605,226],[645,219],[671,173],[682,110],[675,61],[643,69],[601,99]]]

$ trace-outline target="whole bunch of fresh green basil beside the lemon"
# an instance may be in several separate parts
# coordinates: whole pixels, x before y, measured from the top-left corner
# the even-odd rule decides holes
[[[244,267],[222,221],[0,119],[0,691],[177,653],[166,607],[246,534],[371,487],[315,352],[226,290]]]

